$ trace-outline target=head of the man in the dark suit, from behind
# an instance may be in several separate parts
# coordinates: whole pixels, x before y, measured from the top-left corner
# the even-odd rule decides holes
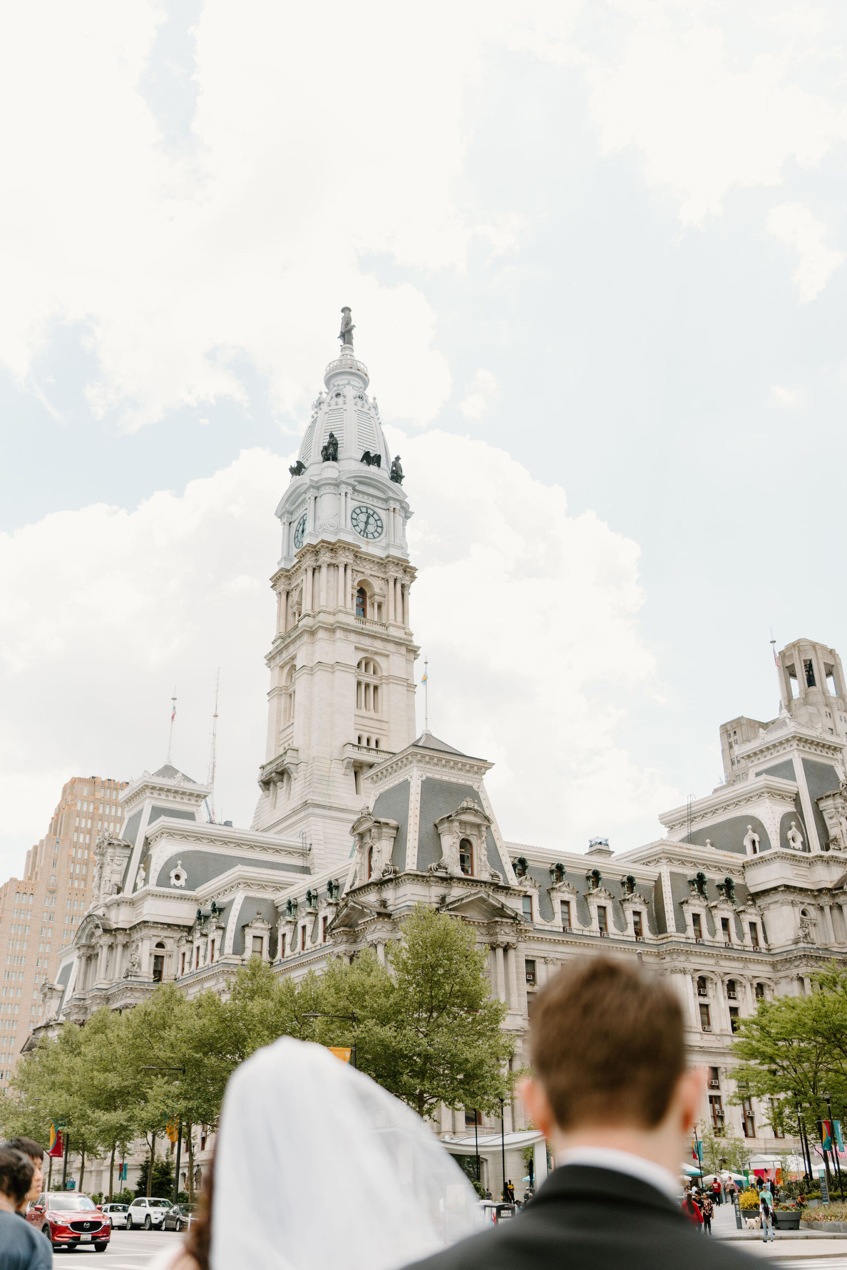
[[[683,1029],[665,979],[608,958],[574,959],[532,1013],[530,1115],[560,1151],[617,1147],[676,1168],[702,1096]]]

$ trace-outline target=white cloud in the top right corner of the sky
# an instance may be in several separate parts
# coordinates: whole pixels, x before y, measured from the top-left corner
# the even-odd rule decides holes
[[[720,213],[733,188],[780,184],[789,160],[819,164],[847,137],[843,102],[803,86],[833,53],[819,23],[768,10],[756,25],[752,11],[698,4],[615,8],[620,52],[584,55],[601,144],[640,151],[683,224]]]

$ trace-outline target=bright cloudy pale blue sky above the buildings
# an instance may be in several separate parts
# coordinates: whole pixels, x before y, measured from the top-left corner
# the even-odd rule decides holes
[[[9,8],[0,875],[164,761],[174,685],[204,779],[218,669],[249,826],[342,305],[504,836],[626,850],[716,786],[771,632],[847,649],[846,71],[836,4]]]

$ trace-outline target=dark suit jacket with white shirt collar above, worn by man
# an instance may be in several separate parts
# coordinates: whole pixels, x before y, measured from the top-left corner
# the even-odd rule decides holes
[[[523,1212],[419,1261],[415,1270],[750,1270],[665,1195],[627,1173],[556,1168]]]

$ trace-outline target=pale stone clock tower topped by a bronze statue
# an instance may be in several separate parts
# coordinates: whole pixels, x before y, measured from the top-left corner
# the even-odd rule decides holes
[[[316,871],[349,857],[363,773],[415,737],[411,512],[353,353],[349,309],[339,339],[277,507],[277,630],[254,818],[257,829],[302,841]]]

